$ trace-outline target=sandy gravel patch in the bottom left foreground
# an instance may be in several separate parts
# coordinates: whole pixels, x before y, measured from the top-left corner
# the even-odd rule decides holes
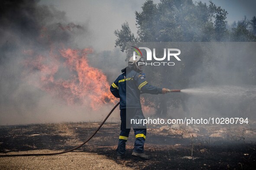
[[[20,151],[8,154],[49,153],[49,150]],[[10,164],[11,163],[11,164]],[[130,170],[104,155],[87,152],[69,152],[54,156],[0,157],[1,170]]]

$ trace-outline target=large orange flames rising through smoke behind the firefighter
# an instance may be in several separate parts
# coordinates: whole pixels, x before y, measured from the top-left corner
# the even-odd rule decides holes
[[[68,104],[89,104],[97,109],[101,104],[116,103],[117,99],[110,93],[107,77],[101,70],[88,64],[87,54],[92,52],[91,48],[68,48],[59,50],[59,55],[54,55],[51,50],[49,57],[38,55],[36,59],[31,58],[26,61],[26,66],[30,68],[29,75],[37,72],[39,80],[30,82]],[[24,53],[34,56],[32,50]],[[71,76],[68,79],[58,78],[60,68],[68,69]]]

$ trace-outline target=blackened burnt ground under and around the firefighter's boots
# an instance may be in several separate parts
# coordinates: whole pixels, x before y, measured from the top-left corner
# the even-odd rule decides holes
[[[0,153],[49,149],[67,150],[85,141],[98,123],[59,123],[0,126]],[[126,158],[116,160],[118,123],[106,123],[77,152],[104,155],[132,169],[255,169],[254,126],[149,127],[145,150],[152,159],[131,156],[134,135],[126,143]],[[193,136],[192,136],[193,135]],[[193,155],[191,150],[193,148]],[[193,156],[193,157],[191,157]],[[0,159],[3,159],[0,157]],[[84,158],[86,159],[86,157]],[[11,163],[10,163],[11,164]]]

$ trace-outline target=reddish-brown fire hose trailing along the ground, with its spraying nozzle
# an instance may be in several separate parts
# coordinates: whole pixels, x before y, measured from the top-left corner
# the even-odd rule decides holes
[[[169,92],[181,92],[180,90],[169,90]],[[55,152],[55,153],[45,153],[45,154],[0,154],[0,157],[18,157],[18,156],[49,156],[49,155],[55,155],[55,154],[65,154],[67,152],[71,152],[74,151],[78,148],[81,148],[84,144],[86,144],[88,141],[90,141],[94,135],[100,130],[101,126],[103,126],[103,124],[106,122],[107,118],[110,116],[110,114],[117,108],[117,106],[120,104],[120,102],[118,102],[113,108],[112,110],[110,110],[110,112],[108,113],[108,115],[106,116],[106,118],[103,120],[103,122],[100,124],[100,126],[97,128],[97,130],[91,135],[90,138],[88,138],[85,142],[81,143],[80,145],[76,146],[75,148],[66,150],[66,151],[62,151],[62,152]]]

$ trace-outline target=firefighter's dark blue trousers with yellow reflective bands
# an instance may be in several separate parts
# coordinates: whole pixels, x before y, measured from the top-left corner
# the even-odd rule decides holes
[[[126,117],[126,113],[129,114]],[[126,142],[129,137],[129,133],[131,127],[133,127],[135,142],[134,142],[134,152],[143,152],[144,151],[144,143],[146,139],[146,125],[131,125],[130,119],[144,119],[143,112],[141,109],[120,109],[120,117],[121,117],[121,132],[119,136],[119,142],[117,147],[117,155],[125,154]],[[126,126],[127,125],[127,126]]]

